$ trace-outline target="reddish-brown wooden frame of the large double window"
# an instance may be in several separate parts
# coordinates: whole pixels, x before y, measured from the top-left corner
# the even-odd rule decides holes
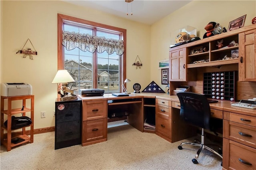
[[[123,28],[118,28],[118,27],[114,27],[114,26],[109,26],[106,24],[100,24],[97,22],[92,22],[92,21],[88,21],[88,20],[84,20],[84,19],[80,19],[80,18],[75,18],[72,16],[67,16],[67,15],[63,15],[63,14],[58,14],[58,30],[57,30],[57,35],[58,35],[58,70],[64,69],[64,63],[65,63],[65,58],[64,58],[64,46],[62,45],[62,26],[64,24],[64,22],[74,22],[74,23],[80,23],[80,24],[85,24],[85,25],[89,25],[89,26],[93,26],[95,27],[97,30],[112,30],[113,32],[122,32],[123,34],[123,40],[124,40],[124,53],[121,57],[121,62],[120,62],[120,90],[122,92],[123,89],[121,88],[122,83],[124,82],[124,80],[126,79],[126,29]],[[94,31],[96,31],[96,29]],[[94,65],[97,65],[97,58],[93,57],[93,63]],[[97,73],[97,67],[93,67],[93,73]],[[93,80],[97,80],[97,74],[93,74],[92,77]],[[97,88],[97,81],[93,81],[92,82],[92,88]]]

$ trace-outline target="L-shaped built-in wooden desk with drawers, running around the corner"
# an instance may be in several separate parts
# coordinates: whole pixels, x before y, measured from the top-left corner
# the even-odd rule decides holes
[[[83,101],[82,146],[107,140],[107,111],[111,107],[128,109],[131,113],[128,116],[128,123],[141,132],[146,132],[143,128],[146,109],[143,106],[155,107],[155,132],[158,136],[170,142],[187,137],[183,134],[186,132],[177,128],[185,126],[177,122],[180,109],[177,96],[163,93],[132,93],[129,97],[105,94],[102,97],[79,98]],[[108,100],[116,99],[120,99],[120,103],[108,104]],[[138,100],[122,102],[122,99]],[[144,99],[155,99],[155,104],[144,103]],[[232,103],[234,102],[219,101],[210,104],[212,117],[223,119],[223,169],[256,169],[256,109],[235,107]]]

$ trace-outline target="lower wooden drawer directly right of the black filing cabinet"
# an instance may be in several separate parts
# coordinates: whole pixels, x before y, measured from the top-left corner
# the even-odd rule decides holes
[[[107,118],[83,122],[82,143],[107,137]]]

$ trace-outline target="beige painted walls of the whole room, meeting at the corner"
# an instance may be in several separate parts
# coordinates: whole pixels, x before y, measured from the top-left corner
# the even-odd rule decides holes
[[[155,81],[161,85],[158,61],[168,58],[170,44],[177,30],[184,26],[197,28],[198,36],[205,33],[210,21],[228,27],[228,23],[244,14],[245,25],[256,16],[255,1],[192,1],[152,26],[117,18],[100,11],[74,6],[62,1],[1,1],[0,27],[0,82],[30,83],[35,95],[34,128],[54,126],[54,101],[56,85],[51,84],[57,71],[57,14],[65,14],[127,30],[127,78],[128,91],[140,83],[143,90]],[[16,54],[27,39],[33,43],[38,55],[34,60]],[[132,66],[139,55],[143,66]],[[46,111],[46,118],[40,112]]]

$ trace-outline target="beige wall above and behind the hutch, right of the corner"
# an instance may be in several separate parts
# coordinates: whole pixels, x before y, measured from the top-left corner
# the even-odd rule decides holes
[[[151,28],[151,72],[150,78],[160,85],[161,73],[158,61],[169,57],[170,45],[175,44],[176,35],[180,28],[192,26],[197,28],[197,36],[203,38],[204,27],[209,22],[217,22],[228,29],[230,21],[247,14],[245,26],[252,24],[256,16],[256,1],[198,1],[194,0],[172,14],[162,18]],[[165,86],[161,86],[164,88]]]

